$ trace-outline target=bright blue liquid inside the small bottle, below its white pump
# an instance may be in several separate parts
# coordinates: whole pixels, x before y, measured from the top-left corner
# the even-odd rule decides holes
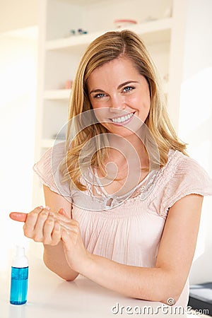
[[[11,270],[11,304],[23,305],[27,302],[28,294],[28,267]]]

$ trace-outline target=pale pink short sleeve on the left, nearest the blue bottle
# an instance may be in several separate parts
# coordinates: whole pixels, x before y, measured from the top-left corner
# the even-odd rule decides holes
[[[66,155],[65,143],[57,143],[52,148],[49,148],[42,158],[35,163],[33,170],[40,177],[42,184],[45,184],[49,189],[57,194],[60,194],[71,199],[71,190],[69,182],[63,181],[60,165]]]

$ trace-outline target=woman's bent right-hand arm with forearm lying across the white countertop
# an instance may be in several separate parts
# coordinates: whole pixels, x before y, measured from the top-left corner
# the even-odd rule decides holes
[[[133,298],[167,303],[182,293],[192,265],[203,196],[177,201],[167,216],[154,268],[127,266],[86,253],[79,232],[62,231],[69,266],[92,281]]]

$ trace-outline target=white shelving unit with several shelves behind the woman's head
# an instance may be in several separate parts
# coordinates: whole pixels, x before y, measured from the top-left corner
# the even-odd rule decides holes
[[[175,117],[180,83],[173,73],[175,64],[181,62],[176,49],[179,50],[178,37],[182,39],[182,30],[177,32],[177,22],[180,23],[180,11],[184,10],[183,2],[131,0],[129,4],[128,0],[40,0],[35,160],[53,145],[54,136],[66,123],[71,94],[71,90],[64,89],[66,81],[74,79],[78,62],[88,44],[107,30],[117,30],[114,29],[117,18],[131,18],[138,22],[128,29],[138,33],[146,43],[161,78],[165,79],[163,87],[168,102],[170,91],[175,87],[175,97],[168,108]],[[69,35],[70,30],[78,28],[88,31],[88,34]],[[179,73],[179,69],[177,71]],[[177,122],[174,124],[176,127]],[[34,189],[33,201],[40,204],[36,180]]]

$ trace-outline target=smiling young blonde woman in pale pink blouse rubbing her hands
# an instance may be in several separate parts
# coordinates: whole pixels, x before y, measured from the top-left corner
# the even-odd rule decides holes
[[[46,266],[132,298],[187,305],[204,195],[212,182],[167,116],[151,58],[129,30],[105,33],[81,59],[66,144],[35,165],[45,208],[24,216]]]

